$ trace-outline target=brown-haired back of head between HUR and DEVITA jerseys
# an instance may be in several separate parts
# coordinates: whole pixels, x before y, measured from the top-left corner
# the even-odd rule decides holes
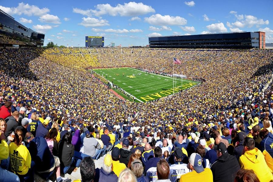
[[[165,159],[157,163],[157,180],[156,182],[171,182],[169,180],[170,166]]]

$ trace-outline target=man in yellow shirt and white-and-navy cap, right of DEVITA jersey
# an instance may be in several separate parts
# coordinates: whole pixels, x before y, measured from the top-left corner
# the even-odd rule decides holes
[[[212,172],[209,168],[205,168],[202,166],[202,157],[199,154],[192,153],[190,155],[189,163],[187,165],[188,169],[192,172],[187,174],[183,174],[180,177],[179,182],[192,182],[192,181],[204,181],[204,182],[212,182],[213,176]]]

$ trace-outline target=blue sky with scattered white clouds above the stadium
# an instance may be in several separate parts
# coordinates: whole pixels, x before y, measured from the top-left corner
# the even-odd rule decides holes
[[[147,45],[149,36],[265,31],[273,42],[273,1],[0,1],[0,9],[32,30],[45,45],[85,46],[85,36],[104,45]]]

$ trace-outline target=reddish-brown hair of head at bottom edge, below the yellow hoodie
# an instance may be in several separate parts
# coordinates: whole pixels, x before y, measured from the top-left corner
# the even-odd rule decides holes
[[[234,182],[260,182],[253,170],[241,169],[237,172]]]

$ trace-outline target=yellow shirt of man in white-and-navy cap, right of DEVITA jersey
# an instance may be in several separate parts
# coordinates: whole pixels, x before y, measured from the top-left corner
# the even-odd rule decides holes
[[[192,181],[213,182],[211,169],[204,168],[204,171],[201,173],[197,173],[195,170],[193,170],[187,174],[183,174],[179,180],[179,182],[192,182]]]

